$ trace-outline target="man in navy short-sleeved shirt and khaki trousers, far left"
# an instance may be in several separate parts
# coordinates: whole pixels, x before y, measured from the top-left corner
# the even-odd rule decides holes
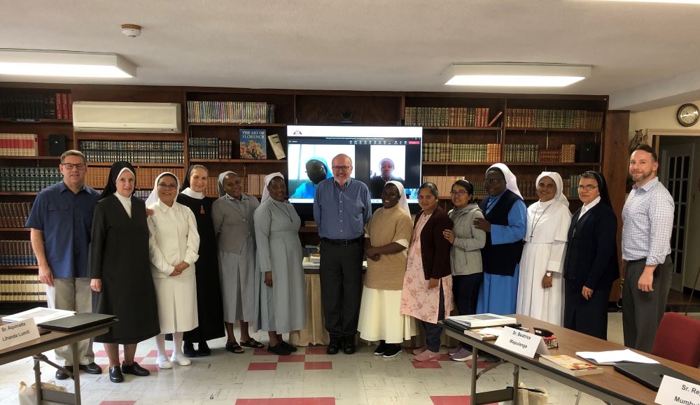
[[[92,312],[87,251],[99,192],[85,185],[87,162],[82,152],[66,150],[59,170],[63,180],[36,196],[25,226],[31,228],[31,248],[38,262],[39,280],[46,285],[49,308]],[[56,357],[73,371],[71,346],[57,348]],[[91,339],[78,343],[78,362],[80,370],[102,373],[94,363]],[[68,377],[64,371],[56,371],[57,379]]]

